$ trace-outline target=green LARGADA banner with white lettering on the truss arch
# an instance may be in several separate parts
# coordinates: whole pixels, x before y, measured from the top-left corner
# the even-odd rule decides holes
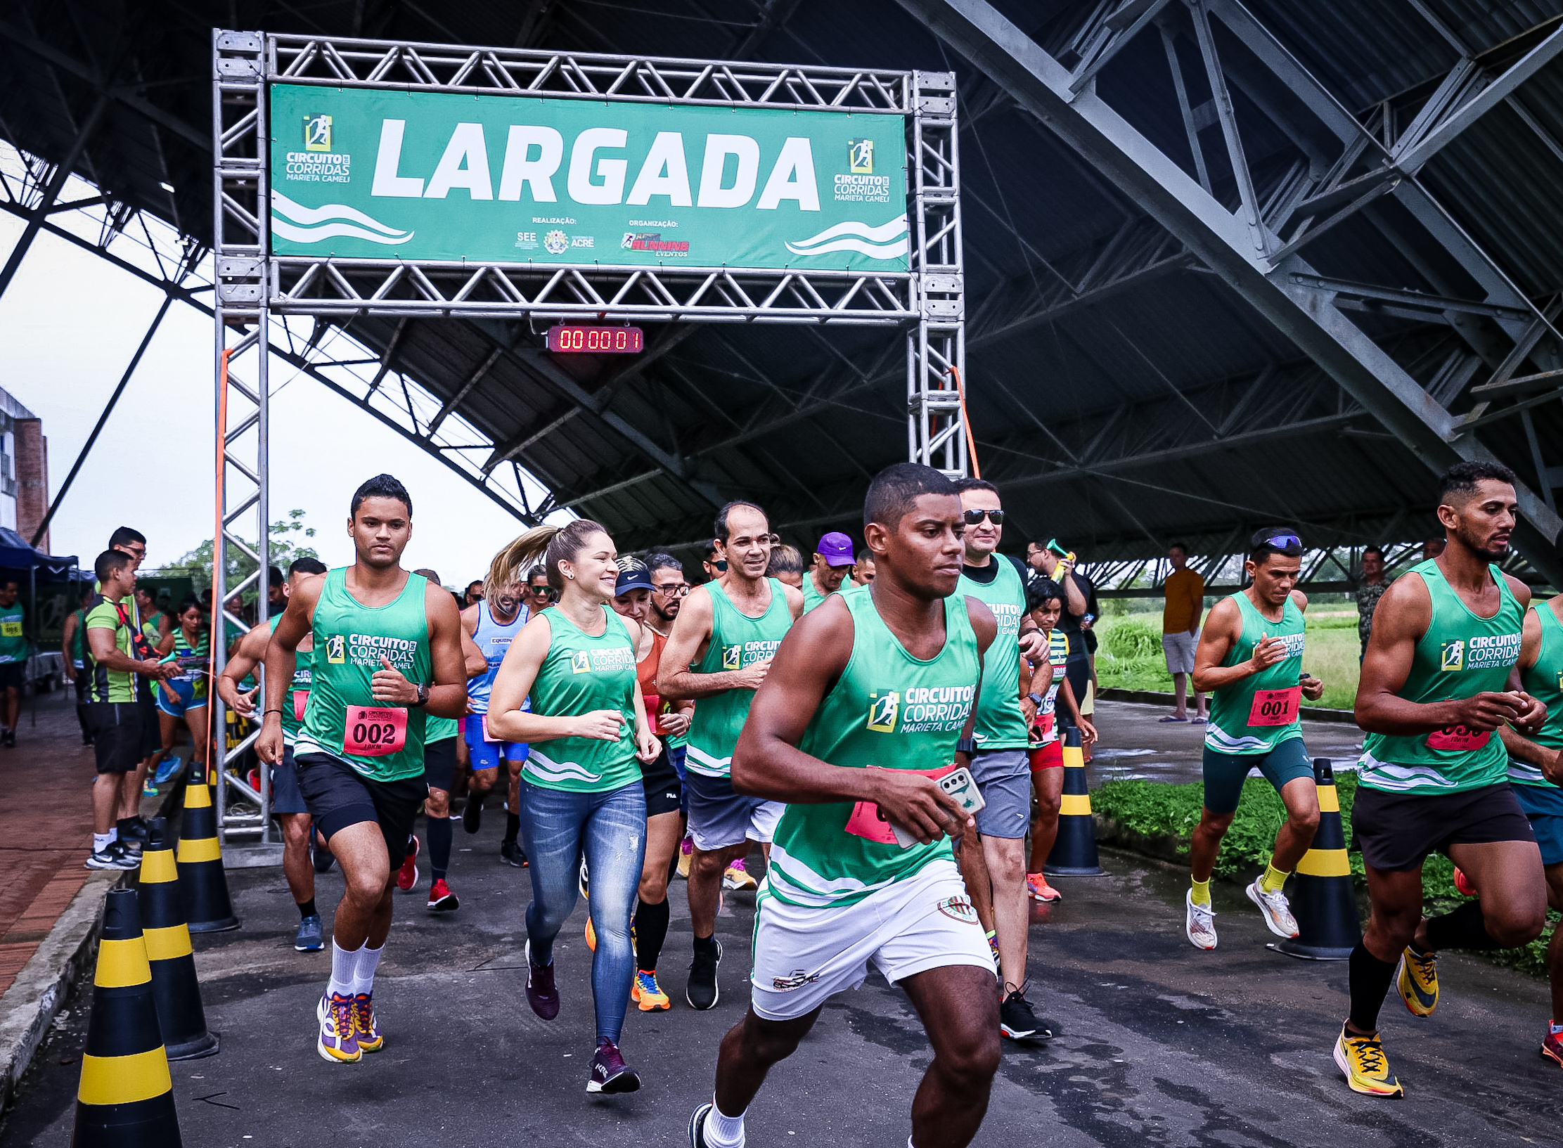
[[[270,87],[274,255],[908,270],[900,116]]]

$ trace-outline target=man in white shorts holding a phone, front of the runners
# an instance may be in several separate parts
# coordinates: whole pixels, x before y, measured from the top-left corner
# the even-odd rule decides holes
[[[955,592],[963,522],[949,478],[888,467],[863,519],[872,587],[832,595],[794,626],[733,756],[739,792],[788,804],[756,898],[750,1006],[722,1040],[691,1148],[744,1143],[766,1073],[871,962],[907,992],[933,1045],[911,1142],[960,1148],[988,1107],[994,967],[946,836],[974,823],[930,775],[969,762],[996,623]]]

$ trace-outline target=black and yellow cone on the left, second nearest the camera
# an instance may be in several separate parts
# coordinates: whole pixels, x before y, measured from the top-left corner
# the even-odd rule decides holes
[[[194,1061],[217,1051],[217,1034],[206,1031],[200,1003],[191,931],[184,925],[180,870],[173,864],[173,837],[161,817],[147,822],[147,845],[141,851],[142,932],[152,962],[152,995],[158,1003],[158,1026],[170,1061]]]

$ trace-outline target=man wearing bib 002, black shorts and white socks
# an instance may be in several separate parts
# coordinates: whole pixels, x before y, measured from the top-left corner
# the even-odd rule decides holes
[[[402,569],[413,536],[406,487],[391,475],[359,486],[347,533],[353,564],[300,586],[272,631],[256,740],[256,753],[275,767],[295,651],[311,636],[309,697],[294,764],[345,886],[331,926],[331,979],[316,1009],[316,1051],[330,1062],[358,1061],[384,1043],[374,976],[391,931],[394,876],[428,795],[424,731],[428,717],[455,718],[467,704],[456,603]]]

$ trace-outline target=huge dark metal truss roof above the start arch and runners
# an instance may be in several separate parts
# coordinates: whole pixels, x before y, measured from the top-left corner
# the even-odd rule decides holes
[[[133,270],[203,305],[219,25],[953,70],[969,419],[1011,542],[1416,539],[1435,470],[1497,458],[1563,584],[1563,0],[17,0],[0,137],[31,166],[0,206],[109,256],[166,220],[183,245]],[[100,195],[58,201],[72,172]],[[885,331],[671,325],[627,365],[505,320],[361,317],[341,359],[330,323],[289,331],[475,484],[535,476],[541,503],[492,490],[520,517],[625,550],[697,545],[736,495],[807,548],[907,456]]]

